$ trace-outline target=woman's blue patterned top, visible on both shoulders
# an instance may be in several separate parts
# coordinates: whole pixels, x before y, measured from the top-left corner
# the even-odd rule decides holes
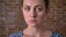
[[[9,37],[22,37],[22,36],[23,36],[22,32],[16,32],[16,33],[11,34]],[[63,35],[52,32],[52,37],[63,37]]]

